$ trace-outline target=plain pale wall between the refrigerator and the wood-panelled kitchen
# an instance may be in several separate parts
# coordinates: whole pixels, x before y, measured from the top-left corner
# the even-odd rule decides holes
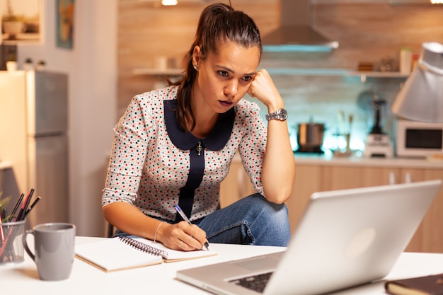
[[[69,219],[79,236],[103,236],[101,211],[117,96],[117,0],[75,0],[74,48],[56,46],[56,1],[42,1],[42,45],[19,45],[26,57],[69,74]]]

